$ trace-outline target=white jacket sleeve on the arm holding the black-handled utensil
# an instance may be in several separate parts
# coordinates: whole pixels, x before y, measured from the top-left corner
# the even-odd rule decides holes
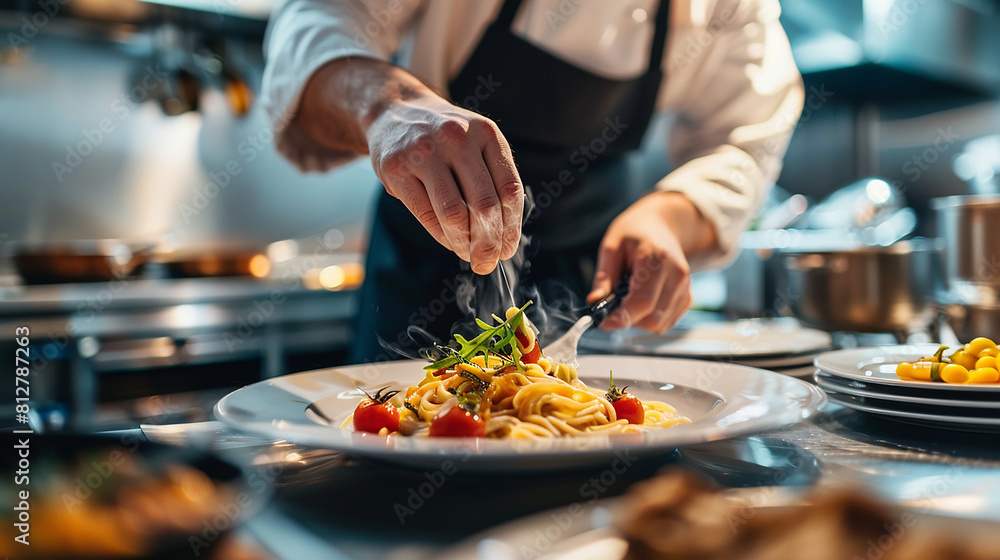
[[[708,44],[681,45],[671,56],[686,80],[670,137],[678,167],[657,188],[684,194],[715,225],[719,246],[692,261],[695,268],[723,266],[735,255],[802,111],[802,78],[779,14],[777,0],[719,0],[707,35],[692,39]],[[667,72],[670,80],[671,66]]]

